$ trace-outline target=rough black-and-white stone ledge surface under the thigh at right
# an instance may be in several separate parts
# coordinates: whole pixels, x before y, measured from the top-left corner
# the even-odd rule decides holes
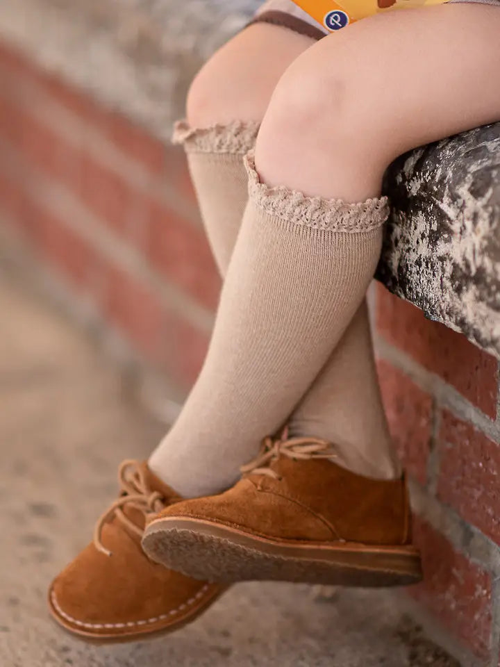
[[[500,356],[500,123],[412,151],[385,178],[378,277]]]

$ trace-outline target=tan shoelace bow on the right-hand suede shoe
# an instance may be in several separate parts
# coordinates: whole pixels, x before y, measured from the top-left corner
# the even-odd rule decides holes
[[[281,438],[267,436],[260,445],[260,452],[253,461],[241,466],[242,475],[267,475],[273,479],[280,479],[278,473],[269,468],[272,461],[280,456],[289,459],[331,459],[336,456],[331,443],[319,438],[286,438],[284,431]]]

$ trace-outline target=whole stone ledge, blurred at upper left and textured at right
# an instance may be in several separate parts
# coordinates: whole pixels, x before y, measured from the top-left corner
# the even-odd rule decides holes
[[[256,0],[3,0],[0,38],[169,140],[190,80]],[[500,358],[500,123],[402,156],[377,277]]]

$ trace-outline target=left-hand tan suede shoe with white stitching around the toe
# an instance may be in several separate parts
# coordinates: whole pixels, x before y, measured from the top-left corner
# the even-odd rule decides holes
[[[49,588],[59,625],[88,641],[136,641],[196,618],[224,586],[156,565],[141,548],[146,517],[179,497],[146,463],[124,461],[120,495],[98,520],[94,540]]]

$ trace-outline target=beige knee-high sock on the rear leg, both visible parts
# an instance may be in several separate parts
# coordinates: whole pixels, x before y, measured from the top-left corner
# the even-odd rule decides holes
[[[258,123],[238,121],[204,129],[179,122],[174,132],[174,141],[183,145],[188,156],[203,223],[222,277],[248,200],[243,156],[255,145],[257,133]],[[336,443],[339,462],[355,472],[374,477],[399,473],[378,388],[365,302],[290,416],[289,427],[291,436],[316,436]],[[168,463],[168,452],[165,454]]]

